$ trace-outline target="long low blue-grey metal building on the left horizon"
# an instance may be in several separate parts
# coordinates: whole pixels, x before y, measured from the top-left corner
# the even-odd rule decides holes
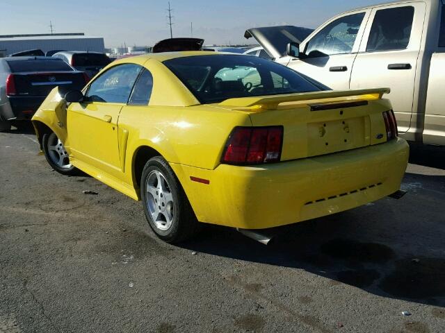
[[[83,33],[0,35],[0,57],[31,49],[104,52],[105,46],[103,37]]]

